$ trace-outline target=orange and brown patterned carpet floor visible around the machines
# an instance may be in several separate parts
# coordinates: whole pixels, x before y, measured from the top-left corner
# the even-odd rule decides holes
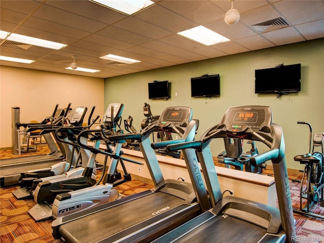
[[[39,153],[47,153],[46,147],[39,147]],[[35,155],[35,153],[23,154],[22,156]],[[0,151],[0,159],[11,157],[11,151]],[[19,155],[14,155],[19,156]],[[218,166],[222,166],[217,164]],[[267,169],[264,174],[272,174]],[[99,175],[98,175],[99,176]],[[300,175],[289,174],[290,179],[300,179]],[[132,180],[117,187],[120,193],[131,195],[138,193],[152,185],[138,180]],[[293,208],[299,209],[299,183],[290,182]],[[51,234],[52,220],[35,222],[27,213],[35,203],[33,199],[17,200],[12,191],[18,186],[0,188],[0,242],[4,243],[56,243],[62,242],[55,240]],[[305,202],[304,202],[305,203]],[[324,215],[324,208],[319,205],[313,206],[311,211],[316,214]],[[298,214],[294,215],[296,219],[296,231],[298,242],[316,242],[324,243],[324,221],[318,218],[309,218]],[[216,242],[216,241],[215,241]]]

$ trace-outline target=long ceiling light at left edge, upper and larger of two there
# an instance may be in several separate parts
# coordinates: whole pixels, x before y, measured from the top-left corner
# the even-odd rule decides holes
[[[50,48],[55,50],[59,50],[67,46],[65,44],[61,44],[57,42],[46,41],[45,39],[38,39],[26,35],[9,33],[2,30],[0,30],[0,38],[8,39],[8,41],[19,42],[19,43],[34,45],[38,47],[45,47],[45,48]]]

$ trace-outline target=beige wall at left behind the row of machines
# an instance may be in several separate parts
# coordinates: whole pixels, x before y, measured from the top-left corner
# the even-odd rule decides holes
[[[41,121],[55,105],[87,106],[88,115],[104,113],[104,79],[16,67],[0,67],[0,147],[11,147],[11,107],[20,107],[20,122]],[[85,121],[88,121],[88,115]]]

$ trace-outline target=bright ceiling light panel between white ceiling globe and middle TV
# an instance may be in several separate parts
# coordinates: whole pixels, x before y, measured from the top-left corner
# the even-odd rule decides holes
[[[230,39],[220,35],[204,26],[197,26],[179,32],[178,34],[191,39],[192,41],[211,46],[222,42],[229,42]]]

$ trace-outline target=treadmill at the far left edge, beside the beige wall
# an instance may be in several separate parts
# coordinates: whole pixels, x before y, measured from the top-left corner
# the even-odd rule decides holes
[[[16,124],[15,126],[26,126],[27,131],[38,130],[39,128],[50,128],[52,125],[60,123],[64,116],[64,109],[58,108],[58,104],[55,107],[53,115],[51,117],[50,124]],[[59,161],[63,161],[64,149],[60,147],[58,150],[51,134],[44,134],[47,144],[51,148],[52,152],[44,155],[34,155],[18,158],[1,159],[0,163],[0,186],[16,185],[20,178],[20,172],[39,169],[39,167],[50,167]],[[59,145],[59,144],[58,144]]]

